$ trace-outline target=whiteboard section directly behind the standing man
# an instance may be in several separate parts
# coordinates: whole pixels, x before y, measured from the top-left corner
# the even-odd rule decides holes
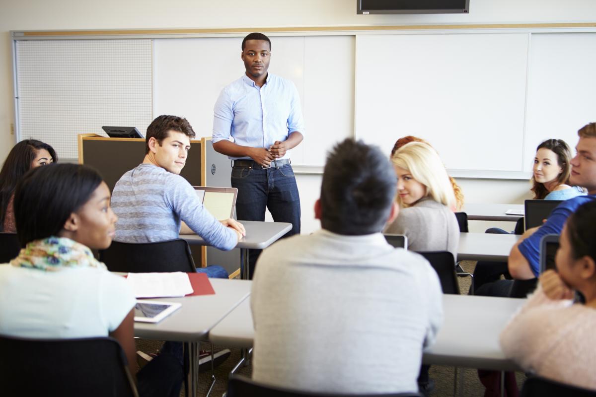
[[[354,37],[271,37],[269,71],[290,79],[302,100],[305,140],[291,151],[296,165],[324,165],[333,143],[353,136]],[[211,136],[222,88],[244,74],[240,37],[154,40],[153,114],[188,118]]]

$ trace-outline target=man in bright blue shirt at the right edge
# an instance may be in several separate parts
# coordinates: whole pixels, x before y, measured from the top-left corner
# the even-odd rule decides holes
[[[578,196],[561,202],[552,210],[542,226],[526,230],[511,249],[508,270],[516,280],[530,280],[538,277],[540,271],[540,242],[545,235],[560,235],[569,215],[586,202],[596,199],[596,123],[589,123],[579,131],[576,155],[570,161],[570,185],[582,186],[588,190],[587,196]],[[511,280],[486,283],[476,290],[476,295],[507,296]]]

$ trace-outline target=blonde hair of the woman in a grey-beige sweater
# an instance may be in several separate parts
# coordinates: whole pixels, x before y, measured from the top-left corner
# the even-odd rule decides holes
[[[410,142],[392,156],[393,165],[408,170],[412,177],[426,186],[426,195],[449,208],[455,204],[453,187],[439,154],[427,143]],[[408,207],[398,196],[400,207]]]

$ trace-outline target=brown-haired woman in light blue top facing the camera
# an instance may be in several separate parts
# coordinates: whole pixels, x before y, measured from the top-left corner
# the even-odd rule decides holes
[[[536,148],[532,175],[535,200],[568,200],[585,195],[582,187],[569,186],[571,151],[563,139],[547,139]]]

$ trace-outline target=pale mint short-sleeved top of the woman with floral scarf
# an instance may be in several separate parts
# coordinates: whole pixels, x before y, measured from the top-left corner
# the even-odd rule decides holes
[[[108,336],[134,305],[126,280],[107,270],[42,271],[0,265],[0,335]]]

